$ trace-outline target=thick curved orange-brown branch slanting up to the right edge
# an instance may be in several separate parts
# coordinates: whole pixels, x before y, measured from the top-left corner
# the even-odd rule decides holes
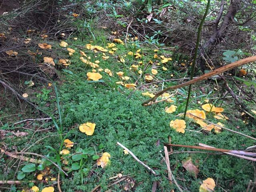
[[[209,73],[206,73],[206,74],[204,74],[202,76],[199,76],[198,78],[194,78],[194,79],[192,79],[192,80],[190,80],[188,82],[185,82],[185,83],[182,83],[182,84],[179,84],[179,85],[170,86],[168,88],[165,88],[164,90],[158,92],[156,94],[156,96],[154,96],[153,98],[151,98],[151,99],[147,100],[146,102],[142,103],[142,106],[145,106],[149,102],[152,102],[153,100],[156,100],[156,98],[158,98],[160,95],[164,94],[168,90],[174,90],[174,89],[182,88],[184,86],[188,86],[190,84],[194,84],[196,82],[199,82],[199,81],[205,80],[207,78],[210,78],[210,77],[212,77],[214,75],[221,74],[223,72],[231,70],[232,68],[239,67],[241,65],[244,65],[244,64],[249,63],[249,62],[254,62],[254,61],[256,61],[256,56],[251,56],[251,57],[248,57],[248,58],[245,58],[245,59],[233,62],[231,64],[222,66],[222,67],[220,67],[220,68],[218,68],[216,70],[213,70],[213,71],[211,71]]]

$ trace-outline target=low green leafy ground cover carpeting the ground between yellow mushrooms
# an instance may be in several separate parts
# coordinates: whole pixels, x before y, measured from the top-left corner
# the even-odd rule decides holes
[[[198,145],[201,142],[216,148],[240,150],[254,145],[252,140],[226,130],[218,134],[214,131],[200,132],[201,128],[189,118],[186,119],[186,132],[184,134],[171,129],[170,121],[177,118],[181,119],[177,115],[184,112],[187,95],[186,89],[179,89],[175,97],[172,98],[174,102],[171,104],[178,106],[172,114],[167,114],[164,111],[165,107],[170,106],[168,102],[161,102],[148,107],[141,106],[142,101],[146,99],[142,96],[142,92],[145,91],[136,91],[132,94],[131,98],[127,99],[132,90],[128,90],[115,83],[120,80],[115,74],[118,71],[123,71],[124,76],[130,77],[127,81],[128,83],[135,82],[140,75],[138,72],[132,72],[129,68],[132,64],[137,63],[138,60],[134,60],[132,56],[128,55],[125,58],[126,62],[124,64],[117,62],[118,56],[110,56],[108,60],[100,60],[99,53],[94,54],[92,51],[81,48],[92,39],[89,37],[84,40],[81,39],[78,36],[76,41],[73,40],[73,37],[66,41],[80,47],[69,46],[76,50],[76,52],[73,56],[69,57],[71,60],[70,66],[66,70],[59,72],[60,80],[56,82],[58,84],[57,89],[60,100],[59,108],[56,106],[57,100],[54,96],[53,86],[43,85],[42,91],[37,92],[34,92],[33,88],[28,88],[27,90],[31,98],[40,104],[40,108],[54,114],[54,116],[61,114],[63,134],[67,134],[65,138],[75,142],[74,147],[70,149],[70,154],[72,155],[65,156],[68,164],[64,168],[66,168],[69,175],[61,175],[61,188],[63,191],[90,191],[95,186],[100,185],[102,191],[111,189],[121,192],[124,191],[126,182],[111,186],[111,180],[109,180],[109,178],[119,173],[129,175],[130,178],[135,180],[133,191],[150,191],[155,180],[160,181],[160,188],[163,191],[170,191],[172,189],[176,191],[176,186],[170,184],[166,178],[166,164],[161,164],[162,157],[164,156],[163,144],[168,143],[168,136],[172,138],[173,144]],[[96,36],[92,44],[104,47],[108,42],[105,36]],[[58,46],[58,44],[56,43],[55,46]],[[132,44],[128,44],[128,49],[126,49],[124,45],[118,44],[116,48],[118,50],[115,55],[124,56],[129,51],[136,52],[144,47],[134,48]],[[102,81],[88,81],[86,74],[91,71],[91,68],[79,59],[79,50],[85,51],[92,60],[99,59],[100,67],[110,69],[113,72],[113,76],[110,77],[102,72]],[[170,51],[161,50],[160,52],[166,55],[172,54]],[[158,53],[159,55],[160,52]],[[59,54],[62,58],[68,57],[65,48]],[[149,60],[154,61],[153,55],[154,52],[149,51],[148,54],[143,56],[141,60],[144,62],[144,66]],[[157,68],[156,80],[168,79],[171,78],[171,75],[174,78],[184,77],[184,72],[177,70],[175,61],[165,66],[168,68],[168,71],[162,70],[162,66]],[[144,71],[144,74],[147,73],[151,73],[151,66]],[[146,82],[142,77],[138,85],[144,83]],[[162,87],[175,83],[178,82],[166,82],[162,84]],[[148,90],[154,92],[156,88],[156,86],[149,86]],[[206,98],[218,96],[217,92],[213,92],[211,88],[205,87],[205,92],[208,94],[204,94],[198,89],[199,87],[194,88],[192,91],[192,99],[188,109],[200,108],[201,104],[198,104],[198,102],[204,102]],[[255,136],[255,133],[252,132],[255,129],[255,124],[253,122],[245,124],[241,119],[238,119],[238,115],[234,113],[234,110],[231,110],[235,107],[232,106],[234,104],[231,102],[222,103],[222,100],[210,100],[210,102],[216,106],[222,104],[222,107],[225,109],[224,114],[229,117],[229,120],[221,121],[226,128],[239,128],[239,132]],[[60,109],[60,113],[58,109]],[[212,114],[207,114],[207,119],[214,123],[218,122],[213,118]],[[84,122],[94,122],[96,124],[92,136],[87,136],[79,131],[78,126]],[[60,119],[56,123],[60,125]],[[26,123],[17,126],[9,124],[5,129],[22,130],[21,128],[24,126],[26,126]],[[32,124],[32,128],[40,126],[38,122]],[[49,128],[51,126],[52,128],[47,130],[47,132],[26,130],[28,135],[24,137],[14,137],[9,133],[2,140],[2,143],[4,143],[7,149],[13,149],[15,146],[14,151],[21,151],[27,145],[32,145],[29,149],[30,152],[43,154],[54,162],[60,162],[56,154],[58,154],[59,150],[62,150],[60,143],[63,140],[60,139],[52,122],[43,124],[42,128]],[[44,139],[33,145],[40,138]],[[153,168],[158,176],[151,175],[132,156],[125,155],[123,149],[117,146],[116,142],[120,142],[130,149],[142,162]],[[224,154],[193,153],[196,150],[188,150],[188,148],[173,149],[178,152],[170,155],[170,166],[178,184],[187,191],[198,191],[202,180],[211,177],[216,181],[215,191],[222,191],[222,188],[224,188],[229,191],[240,192],[244,191],[248,182],[254,179],[255,168],[252,162]],[[96,165],[98,155],[103,152],[108,152],[111,155],[111,162],[104,169]],[[78,156],[74,158],[74,154],[79,153],[82,153],[83,156],[81,158],[78,158]],[[189,158],[192,158],[192,162],[200,169],[197,178],[182,167],[182,161]],[[26,164],[26,162],[20,162],[17,170],[16,166],[11,166],[14,163],[13,161],[1,157],[0,180],[15,180],[17,174],[21,172],[21,168]],[[49,178],[49,184],[54,183],[55,181],[50,181],[50,178],[57,177],[58,169],[52,166],[46,159],[44,159],[43,164],[45,167],[51,167],[51,172],[45,174],[45,177]],[[79,167],[74,168],[73,164],[79,165]],[[13,185],[12,191],[33,186],[34,184],[28,181],[35,180],[36,175],[40,174],[40,172],[40,168],[38,168],[33,172],[34,174],[25,174],[22,187]],[[43,182],[35,184],[39,188],[45,186]]]

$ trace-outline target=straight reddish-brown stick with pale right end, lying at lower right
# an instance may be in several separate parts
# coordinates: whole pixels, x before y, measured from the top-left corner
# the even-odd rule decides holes
[[[256,153],[240,151],[240,150],[227,150],[227,149],[220,149],[220,148],[212,148],[212,147],[203,147],[203,146],[192,146],[192,145],[178,145],[178,144],[164,144],[168,146],[176,146],[176,147],[186,147],[186,148],[193,148],[193,149],[202,149],[202,150],[210,150],[210,151],[218,151],[218,152],[228,152],[232,154],[240,154],[240,155],[250,155],[256,156]],[[243,156],[245,157],[245,156]],[[247,157],[248,160],[256,161],[256,158]]]

